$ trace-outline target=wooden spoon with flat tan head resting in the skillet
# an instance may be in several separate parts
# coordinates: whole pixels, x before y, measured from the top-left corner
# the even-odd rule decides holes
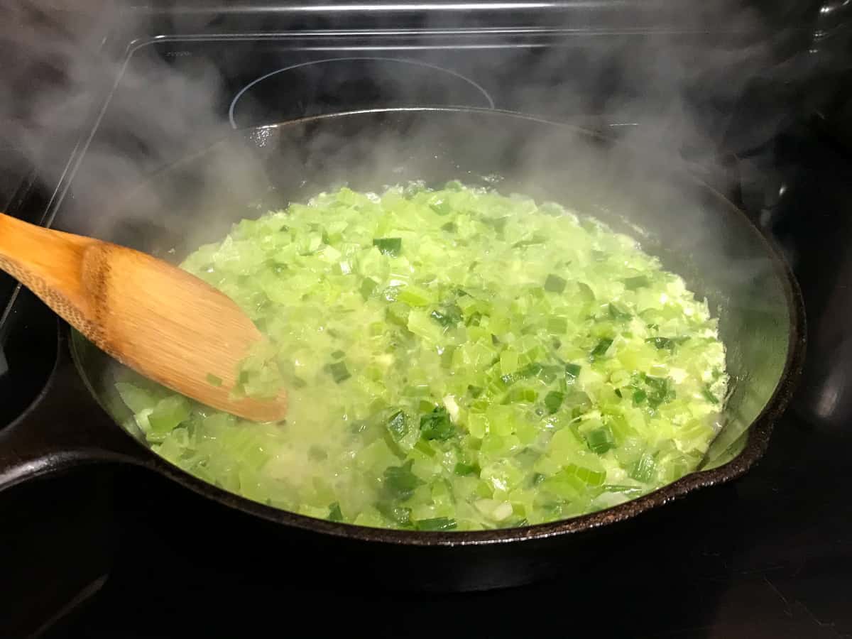
[[[274,400],[230,397],[239,362],[261,333],[229,297],[194,275],[138,250],[2,213],[0,268],[145,377],[239,417],[285,416],[283,392]]]

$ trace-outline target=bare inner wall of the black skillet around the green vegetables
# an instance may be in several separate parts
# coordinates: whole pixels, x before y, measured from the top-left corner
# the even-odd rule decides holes
[[[638,239],[719,318],[731,384],[724,428],[705,458],[710,469],[739,454],[772,399],[793,320],[769,245],[745,216],[675,164],[582,130],[499,112],[361,112],[227,138],[142,185],[107,216],[67,230],[177,260],[221,239],[239,219],[343,184],[377,191],[460,180],[554,200]],[[101,406],[132,423],[112,383],[116,365],[78,336],[74,351]]]

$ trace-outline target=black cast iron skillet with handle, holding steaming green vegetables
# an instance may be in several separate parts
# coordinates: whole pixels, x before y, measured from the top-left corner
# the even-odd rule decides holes
[[[406,585],[414,587],[486,589],[577,567],[620,543],[619,535],[634,534],[642,525],[637,515],[730,481],[763,455],[802,366],[800,293],[786,263],[740,210],[652,149],[508,112],[343,113],[241,132],[158,174],[102,216],[58,219],[66,230],[178,259],[222,238],[242,217],[343,182],[363,190],[451,179],[596,216],[636,236],[707,297],[720,317],[734,383],[726,429],[704,470],[602,512],[532,527],[417,533],[320,521],[225,492],[150,452],[107,414],[127,414],[112,389],[109,360],[62,325],[48,387],[0,433],[0,488],[78,463],[137,464],[222,504],[222,516],[239,518],[240,526],[264,527],[288,548],[301,544],[300,553],[315,550],[353,569],[360,562],[360,574],[379,579],[383,567],[402,561]],[[398,574],[394,579],[399,585]]]

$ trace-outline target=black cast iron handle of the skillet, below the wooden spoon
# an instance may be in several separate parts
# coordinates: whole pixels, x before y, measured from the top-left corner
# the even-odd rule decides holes
[[[0,429],[0,492],[88,463],[147,465],[144,448],[107,416],[78,375],[68,331],[57,333],[47,385],[26,412]]]

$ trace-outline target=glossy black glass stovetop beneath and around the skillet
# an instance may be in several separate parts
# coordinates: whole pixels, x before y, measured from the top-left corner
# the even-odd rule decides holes
[[[509,4],[522,3],[503,3]],[[559,3],[539,4],[555,10]],[[362,14],[322,24],[318,11],[308,11],[308,26],[283,33],[267,28],[270,20],[276,24],[272,5],[233,8],[231,23],[211,9],[187,14],[183,23],[152,11],[146,37],[125,32],[107,43],[123,52],[120,64],[107,66],[118,82],[97,94],[106,108],[94,108],[78,136],[65,136],[67,149],[55,150],[62,170],[38,170],[33,181],[19,154],[4,153],[0,204],[72,228],[75,216],[91,215],[86,211],[104,197],[104,181],[108,193],[120,192],[232,125],[358,107],[498,107],[616,134],[649,129],[659,124],[660,103],[628,97],[644,95],[651,84],[665,101],[669,87],[658,81],[661,59],[653,55],[659,38],[668,54],[695,60],[720,37],[679,26],[671,15],[663,24],[644,9],[631,14],[630,25],[623,16],[619,24],[607,22],[603,14],[615,3],[561,4],[572,20],[591,15],[600,23],[555,29],[495,5],[490,19],[478,14],[462,32],[447,26],[452,15],[424,25],[394,5],[385,8],[380,29]],[[583,14],[583,4],[594,11]],[[277,10],[296,20],[293,6]],[[537,15],[532,5],[523,10]],[[341,24],[359,28],[346,32]],[[168,37],[148,37],[153,33]],[[606,55],[613,50],[628,52],[615,66]],[[735,85],[730,61],[716,72],[729,73]],[[565,81],[577,65],[586,71]],[[216,90],[212,98],[193,94],[170,84],[176,78]],[[707,81],[689,78],[688,95]],[[725,147],[731,130],[749,128],[734,122],[748,93],[740,88],[695,103],[695,126],[683,133],[683,146],[695,153],[706,144],[705,159],[728,158],[733,169],[722,186],[792,261],[810,326],[795,409],[776,426],[763,461],[740,481],[667,507],[641,538],[614,548],[594,571],[512,590],[425,595],[395,592],[391,578],[385,590],[365,591],[345,566],[317,579],[269,573],[260,550],[233,552],[239,535],[204,527],[209,512],[201,498],[142,470],[78,469],[0,494],[0,636],[230,637],[302,629],[319,636],[852,636],[852,334],[844,321],[852,285],[845,259],[852,155],[803,112],[750,112],[749,122],[766,118],[774,126],[736,136],[748,145]],[[676,115],[666,117],[683,124]],[[135,161],[116,165],[117,150]],[[0,302],[10,291],[6,280]],[[0,428],[42,388],[55,330],[52,315],[21,293],[0,330],[9,360],[9,371],[0,373]],[[218,555],[220,546],[229,551]]]

